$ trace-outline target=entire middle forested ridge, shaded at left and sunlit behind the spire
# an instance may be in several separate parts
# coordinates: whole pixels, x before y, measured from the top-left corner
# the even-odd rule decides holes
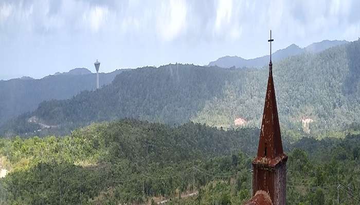
[[[274,63],[281,126],[317,133],[359,122],[359,53],[357,40]],[[34,112],[9,121],[2,131],[61,134],[94,121],[125,117],[170,125],[194,121],[223,128],[258,127],[267,75],[267,67],[238,70],[178,64],[124,71],[100,90],[45,101]]]

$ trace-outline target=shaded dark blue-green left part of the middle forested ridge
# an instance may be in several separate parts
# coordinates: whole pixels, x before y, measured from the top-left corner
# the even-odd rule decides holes
[[[31,116],[59,130],[124,117],[180,124],[194,117],[206,100],[220,95],[223,79],[229,77],[231,73],[222,69],[193,65],[124,71],[109,86],[83,91],[68,100],[46,101],[34,112],[22,115],[21,121],[16,119],[10,124],[20,125],[20,132],[34,130],[34,124],[29,122]]]

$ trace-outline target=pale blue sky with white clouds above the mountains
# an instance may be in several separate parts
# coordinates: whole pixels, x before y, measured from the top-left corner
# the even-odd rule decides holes
[[[0,79],[207,65],[254,58],[291,44],[357,40],[360,1],[0,0]]]

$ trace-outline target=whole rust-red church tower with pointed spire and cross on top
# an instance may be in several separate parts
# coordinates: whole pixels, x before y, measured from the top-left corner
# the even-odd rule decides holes
[[[272,41],[270,31],[270,39],[268,40],[270,42],[270,53]],[[264,198],[271,199],[271,203],[266,204],[284,205],[286,203],[287,156],[282,149],[272,70],[273,64],[270,54],[259,147],[257,156],[253,160],[253,193],[251,193],[253,198],[247,204],[265,204],[259,203]]]

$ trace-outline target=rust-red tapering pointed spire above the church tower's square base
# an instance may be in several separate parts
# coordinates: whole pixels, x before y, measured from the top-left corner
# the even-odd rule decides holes
[[[274,39],[270,39],[268,42],[271,43],[273,40]],[[258,154],[255,159],[255,161],[257,161],[257,159],[260,160],[262,158],[266,158],[267,163],[270,164],[277,163],[282,157],[285,157],[282,149],[272,69],[273,64],[270,59]]]

